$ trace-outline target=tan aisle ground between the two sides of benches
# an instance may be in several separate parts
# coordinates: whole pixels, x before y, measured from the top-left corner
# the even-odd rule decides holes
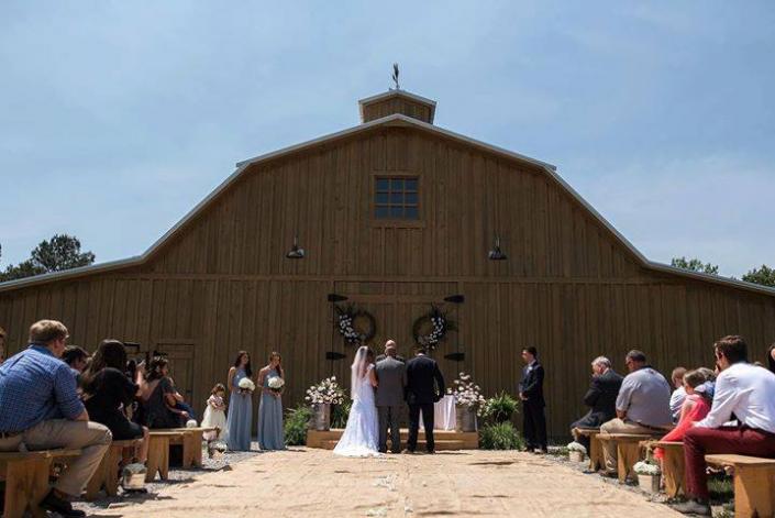
[[[330,451],[264,453],[166,487],[154,500],[96,516],[680,516],[552,461],[514,452],[340,459]]]

